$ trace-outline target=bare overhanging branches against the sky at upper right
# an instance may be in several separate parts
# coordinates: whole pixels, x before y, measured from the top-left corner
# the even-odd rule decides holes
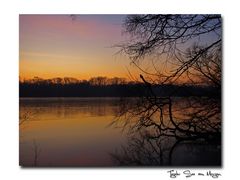
[[[121,51],[139,68],[141,59],[157,57],[154,71],[145,74],[158,78],[160,83],[175,82],[195,71],[214,83],[213,71],[218,80],[221,77],[220,15],[130,15],[124,27],[131,38],[120,45]],[[166,63],[169,66],[162,69]],[[207,75],[203,65],[209,70],[218,66],[217,71]]]

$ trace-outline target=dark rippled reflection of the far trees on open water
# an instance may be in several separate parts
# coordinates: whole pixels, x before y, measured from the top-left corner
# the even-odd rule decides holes
[[[39,113],[35,120],[46,114],[55,114],[59,118],[76,115],[108,116],[116,114],[118,98],[33,98],[21,99],[20,106],[20,114],[24,116],[37,109]]]

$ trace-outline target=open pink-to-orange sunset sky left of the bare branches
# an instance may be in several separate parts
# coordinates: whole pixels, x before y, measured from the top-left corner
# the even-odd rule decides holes
[[[21,78],[129,76],[130,60],[113,46],[124,41],[125,15],[20,15]]]

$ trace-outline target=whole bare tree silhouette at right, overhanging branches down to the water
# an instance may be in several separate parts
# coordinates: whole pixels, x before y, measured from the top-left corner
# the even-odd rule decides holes
[[[143,73],[146,95],[122,103],[113,124],[129,129],[130,138],[112,157],[121,165],[171,165],[183,142],[220,145],[221,17],[133,15],[124,25],[131,39],[120,47]],[[157,57],[152,71],[140,66],[147,56]],[[214,87],[214,91],[178,99],[177,88],[166,97],[153,89],[155,84],[174,83]]]

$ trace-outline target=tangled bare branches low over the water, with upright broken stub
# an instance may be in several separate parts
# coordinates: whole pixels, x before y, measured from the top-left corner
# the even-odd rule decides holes
[[[119,119],[113,124],[122,122],[123,127],[129,127],[129,131],[134,131],[136,137],[130,138],[129,146],[122,147],[120,154],[112,154],[115,160],[122,165],[124,163],[125,165],[162,165],[166,163],[170,165],[174,149],[180,142],[197,140],[220,142],[221,110],[219,101],[214,98],[185,98],[185,103],[181,102],[179,111],[176,109],[178,107],[176,100],[173,101],[171,97],[157,97],[151,83],[147,82],[142,75],[140,77],[146,85],[149,95],[142,97],[136,103],[122,104]],[[162,143],[168,144],[164,145],[167,147],[165,150],[162,149]],[[153,154],[151,157],[149,156],[150,152]],[[168,153],[165,157],[168,158],[167,162],[163,160],[166,153]],[[160,159],[160,161],[152,158]]]

